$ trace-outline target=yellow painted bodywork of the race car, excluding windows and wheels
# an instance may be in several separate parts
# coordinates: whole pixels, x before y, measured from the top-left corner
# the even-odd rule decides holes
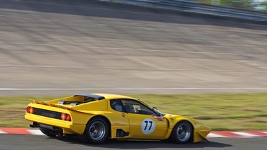
[[[54,127],[60,127],[63,130],[63,134],[79,134],[82,135],[85,132],[85,127],[88,121],[94,116],[103,116],[109,121],[111,125],[111,137],[112,139],[168,139],[171,135],[173,127],[181,120],[189,121],[194,127],[193,142],[200,142],[206,140],[206,135],[211,132],[211,129],[200,123],[197,120],[188,118],[182,115],[162,115],[161,118],[156,118],[155,115],[139,115],[135,113],[125,113],[115,111],[110,106],[111,99],[138,99],[122,96],[117,94],[95,94],[104,96],[105,99],[99,101],[92,101],[77,106],[70,106],[70,104],[58,104],[58,101],[80,101],[82,102],[83,96],[69,96],[62,99],[54,99],[51,101],[35,101],[32,100],[28,106],[34,108],[40,108],[49,111],[56,111],[60,113],[70,114],[72,120],[70,122],[66,120],[59,120],[55,118],[48,118],[42,115],[35,115],[25,113],[25,119],[35,123],[42,123],[44,125],[51,125]],[[144,104],[142,101],[139,101]],[[144,104],[148,106],[147,104]],[[142,132],[142,122],[151,120],[155,123],[154,131],[151,133]],[[121,129],[124,132],[129,132],[128,136],[116,137],[116,130]]]

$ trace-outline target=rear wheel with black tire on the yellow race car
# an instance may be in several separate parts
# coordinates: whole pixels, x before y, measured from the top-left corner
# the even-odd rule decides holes
[[[90,144],[101,144],[108,138],[108,124],[103,118],[93,118],[86,125],[83,136]]]

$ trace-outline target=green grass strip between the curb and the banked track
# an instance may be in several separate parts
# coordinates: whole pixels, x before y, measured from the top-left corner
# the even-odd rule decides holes
[[[164,113],[186,115],[213,130],[267,130],[267,94],[139,94],[133,96]],[[0,127],[28,127],[28,99],[64,96],[0,96]]]

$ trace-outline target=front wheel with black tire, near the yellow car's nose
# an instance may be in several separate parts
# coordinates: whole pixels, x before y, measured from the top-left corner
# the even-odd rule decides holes
[[[179,144],[192,142],[193,127],[188,121],[180,121],[170,135],[170,141]]]

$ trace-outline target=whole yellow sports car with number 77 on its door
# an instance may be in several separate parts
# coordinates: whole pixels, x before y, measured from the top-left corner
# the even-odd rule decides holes
[[[92,144],[106,139],[206,140],[211,128],[182,115],[164,114],[139,99],[118,94],[77,94],[28,104],[25,119],[44,135],[80,135]]]

